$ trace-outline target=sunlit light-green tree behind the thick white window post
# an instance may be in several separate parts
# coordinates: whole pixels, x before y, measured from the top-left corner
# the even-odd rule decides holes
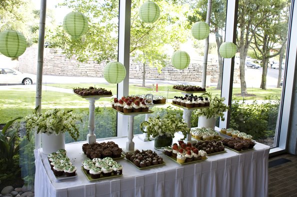
[[[176,0],[155,0],[160,7],[159,19],[146,24],[139,19],[140,0],[131,4],[130,54],[145,65],[157,67],[159,70],[167,63],[164,46],[178,48],[186,39],[187,22],[182,20],[188,8]],[[174,4],[175,3],[175,4]],[[97,62],[116,59],[118,31],[118,0],[64,0],[61,6],[68,6],[74,11],[84,13],[89,19],[88,32],[81,39],[71,39],[61,26],[49,32],[51,47],[64,49],[67,57],[76,56],[79,61],[93,59]],[[174,14],[170,14],[170,13]],[[145,85],[143,74],[143,84]]]

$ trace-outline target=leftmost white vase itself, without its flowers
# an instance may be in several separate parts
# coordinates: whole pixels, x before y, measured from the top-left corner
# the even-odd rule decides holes
[[[41,144],[43,154],[56,152],[58,149],[65,149],[65,133],[59,134],[41,134]]]

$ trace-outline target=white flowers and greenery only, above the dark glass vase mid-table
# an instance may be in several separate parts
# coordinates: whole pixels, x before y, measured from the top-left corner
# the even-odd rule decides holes
[[[146,129],[143,127],[146,127]],[[165,115],[163,118],[160,116],[149,117],[148,121],[143,121],[140,124],[140,129],[142,132],[147,133],[148,140],[150,135],[152,137],[166,135],[173,138],[174,133],[177,131],[181,131],[185,138],[190,131],[187,124],[181,118],[176,118],[174,114]]]

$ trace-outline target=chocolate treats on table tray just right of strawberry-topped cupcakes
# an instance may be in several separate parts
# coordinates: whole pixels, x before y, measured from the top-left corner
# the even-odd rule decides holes
[[[198,141],[197,143],[192,143],[192,146],[197,148],[198,150],[204,150],[207,155],[211,155],[214,153],[225,152],[225,146],[220,140],[206,140],[206,141]]]

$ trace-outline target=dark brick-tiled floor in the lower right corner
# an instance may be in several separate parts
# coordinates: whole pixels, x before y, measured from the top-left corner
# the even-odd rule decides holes
[[[281,154],[269,161],[286,158],[291,161],[268,168],[269,197],[297,196],[297,155]]]

